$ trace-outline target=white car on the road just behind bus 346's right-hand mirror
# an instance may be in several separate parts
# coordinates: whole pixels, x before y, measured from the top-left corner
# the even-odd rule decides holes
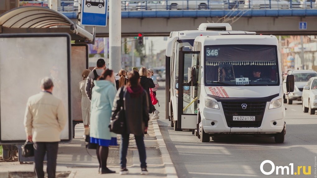
[[[317,72],[313,70],[294,70],[288,71],[288,75],[294,75],[295,87],[294,92],[288,94],[286,92],[286,79],[283,81],[283,88],[285,89],[285,99],[283,101],[287,104],[293,104],[293,100],[301,101],[304,86],[311,77],[317,77]]]

